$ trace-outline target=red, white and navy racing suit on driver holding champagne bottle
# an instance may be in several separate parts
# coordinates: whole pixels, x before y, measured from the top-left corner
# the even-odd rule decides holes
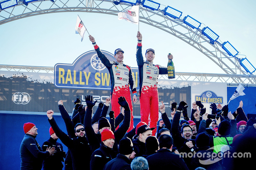
[[[155,128],[152,134],[156,134],[158,121],[158,90],[157,82],[159,74],[167,74],[167,67],[154,65],[153,62],[143,60],[141,41],[137,45],[137,64],[140,78],[140,121],[148,124],[150,128]]]

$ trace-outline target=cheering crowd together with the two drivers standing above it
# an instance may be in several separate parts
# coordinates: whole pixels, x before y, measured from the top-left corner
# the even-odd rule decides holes
[[[110,97],[105,103],[100,102],[94,113],[97,100],[86,96],[84,107],[77,98],[71,117],[63,101],[58,101],[67,134],[55,122],[54,112],[48,110],[50,138],[42,147],[36,141],[36,125],[25,123],[20,145],[21,170],[240,170],[252,166],[256,119],[247,119],[243,102],[236,109],[212,103],[207,108],[211,109],[209,114],[201,101],[195,101],[190,118],[185,101],[173,102],[170,120],[164,102],[158,105],[157,91],[158,75],[167,74],[167,69],[153,64],[155,51],[151,48],[143,60],[140,32],[137,38],[141,122],[133,123],[132,101],[137,101],[137,91],[131,68],[123,63],[124,51],[116,49],[116,61],[109,61],[90,35],[98,57],[111,74]],[[167,57],[173,58],[171,54]],[[159,112],[162,119],[157,127]],[[68,147],[67,151],[63,151],[58,139]]]

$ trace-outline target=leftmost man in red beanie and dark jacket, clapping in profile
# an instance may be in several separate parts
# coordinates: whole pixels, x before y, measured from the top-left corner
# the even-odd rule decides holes
[[[54,155],[55,148],[46,148],[42,152],[41,146],[36,142],[37,128],[34,123],[24,123],[25,136],[20,144],[20,170],[41,170],[43,159]]]

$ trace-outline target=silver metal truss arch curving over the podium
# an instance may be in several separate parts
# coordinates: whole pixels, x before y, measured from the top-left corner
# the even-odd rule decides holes
[[[118,12],[130,6],[131,4],[125,3],[115,5],[111,0],[56,0],[54,3],[49,0],[39,0],[26,6],[20,0],[18,5],[0,11],[0,25],[21,18],[55,12],[94,12],[117,15]],[[220,42],[215,41],[214,44],[211,44],[209,39],[202,35],[200,29],[194,31],[181,19],[168,18],[161,10],[151,11],[140,6],[140,22],[157,27],[187,42],[210,58],[226,74],[249,75],[240,68],[239,60],[236,57],[230,57],[221,48]],[[244,83],[244,79],[239,76],[232,77],[232,81]],[[249,76],[247,81],[253,84],[255,78]]]

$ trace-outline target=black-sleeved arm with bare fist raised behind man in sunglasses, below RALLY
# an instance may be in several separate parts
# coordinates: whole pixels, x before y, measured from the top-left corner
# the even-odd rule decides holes
[[[67,112],[66,108],[64,107],[62,100],[58,101],[58,106],[59,106],[59,110],[60,110],[60,114],[62,116],[62,119],[65,122],[66,129],[67,129],[67,132],[68,132],[68,136],[76,137],[75,134],[74,134],[75,124],[74,124],[73,121],[71,121],[71,118],[68,115],[68,112]]]

